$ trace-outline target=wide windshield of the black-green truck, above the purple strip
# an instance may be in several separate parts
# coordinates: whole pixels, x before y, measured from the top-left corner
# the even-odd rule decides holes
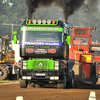
[[[25,31],[21,33],[21,41],[62,42],[62,32]]]

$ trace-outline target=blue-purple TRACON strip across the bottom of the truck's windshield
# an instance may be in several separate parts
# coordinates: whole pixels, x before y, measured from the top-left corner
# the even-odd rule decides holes
[[[20,45],[34,46],[62,46],[62,42],[21,42]]]

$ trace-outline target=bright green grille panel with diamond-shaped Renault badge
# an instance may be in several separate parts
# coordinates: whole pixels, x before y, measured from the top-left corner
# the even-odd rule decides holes
[[[27,61],[27,69],[49,70],[54,69],[54,60],[32,59]]]

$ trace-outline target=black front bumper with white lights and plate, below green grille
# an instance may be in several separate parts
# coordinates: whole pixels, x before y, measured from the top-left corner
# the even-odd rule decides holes
[[[22,71],[21,78],[31,81],[58,81],[62,79],[59,71]]]

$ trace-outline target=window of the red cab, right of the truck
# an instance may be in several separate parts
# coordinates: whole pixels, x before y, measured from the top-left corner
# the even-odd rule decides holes
[[[88,45],[89,38],[73,37],[73,45]]]

